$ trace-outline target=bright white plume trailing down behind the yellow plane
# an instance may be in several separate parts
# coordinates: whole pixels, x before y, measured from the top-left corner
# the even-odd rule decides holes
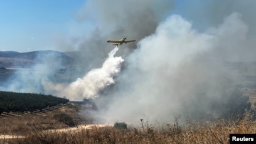
[[[109,57],[102,64],[101,68],[92,69],[83,78],[78,78],[69,85],[46,82],[44,85],[45,90],[48,93],[65,96],[72,101],[82,101],[84,98],[97,98],[100,90],[115,83],[114,76],[120,72],[120,66],[124,59],[120,56],[114,57],[117,51],[118,48],[115,47],[110,51]]]

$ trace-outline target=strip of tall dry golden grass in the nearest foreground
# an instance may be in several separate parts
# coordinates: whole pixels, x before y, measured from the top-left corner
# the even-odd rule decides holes
[[[26,138],[16,138],[9,143],[229,143],[230,133],[256,133],[256,122],[251,115],[242,120],[200,123],[187,121],[179,127],[167,123],[164,128],[148,125],[141,119],[140,125],[127,130],[110,126],[78,131],[37,131],[33,130]]]

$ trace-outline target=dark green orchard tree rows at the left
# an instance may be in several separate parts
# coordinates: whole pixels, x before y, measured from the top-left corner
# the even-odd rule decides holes
[[[48,106],[67,103],[65,98],[36,93],[14,93],[0,91],[0,114],[3,112],[21,112],[42,110]]]

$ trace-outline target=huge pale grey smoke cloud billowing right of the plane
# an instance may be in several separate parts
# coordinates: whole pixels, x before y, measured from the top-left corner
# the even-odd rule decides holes
[[[181,16],[169,16],[125,59],[127,68],[101,115],[107,121],[136,122],[142,116],[171,121],[173,115],[199,117],[219,111],[211,108],[229,103],[233,88],[247,75],[227,63],[256,60],[247,32],[240,13],[203,33]]]

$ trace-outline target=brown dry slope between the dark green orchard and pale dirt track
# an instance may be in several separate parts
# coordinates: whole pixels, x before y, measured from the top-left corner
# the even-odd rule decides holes
[[[77,110],[80,110],[79,107],[67,103],[44,108],[41,112],[9,113],[8,115],[3,113],[0,115],[0,143],[3,138],[1,135],[25,135],[31,130],[53,130],[90,123],[87,115],[77,113]]]

